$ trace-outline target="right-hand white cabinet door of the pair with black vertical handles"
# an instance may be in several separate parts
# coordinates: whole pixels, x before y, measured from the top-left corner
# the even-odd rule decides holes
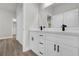
[[[56,56],[78,56],[78,48],[56,43]]]

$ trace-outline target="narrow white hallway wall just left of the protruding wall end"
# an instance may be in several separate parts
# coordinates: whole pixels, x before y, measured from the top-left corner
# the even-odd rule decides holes
[[[23,44],[23,10],[22,4],[18,4],[16,11],[16,40]]]

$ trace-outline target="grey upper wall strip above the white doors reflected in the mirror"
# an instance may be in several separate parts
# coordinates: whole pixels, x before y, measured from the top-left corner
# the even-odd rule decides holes
[[[52,15],[63,13],[69,11],[71,9],[79,8],[79,3],[59,3],[59,5],[55,6],[54,8],[50,8],[50,12]]]

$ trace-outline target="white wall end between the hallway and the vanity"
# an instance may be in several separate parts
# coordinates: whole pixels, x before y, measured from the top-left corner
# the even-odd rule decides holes
[[[29,29],[34,21],[38,20],[38,5],[33,3],[23,4],[24,15],[24,35],[23,35],[23,51],[29,50]]]

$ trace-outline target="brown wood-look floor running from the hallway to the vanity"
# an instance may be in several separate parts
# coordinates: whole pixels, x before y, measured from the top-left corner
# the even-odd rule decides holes
[[[33,51],[22,52],[22,45],[15,39],[0,40],[0,56],[36,56]]]

